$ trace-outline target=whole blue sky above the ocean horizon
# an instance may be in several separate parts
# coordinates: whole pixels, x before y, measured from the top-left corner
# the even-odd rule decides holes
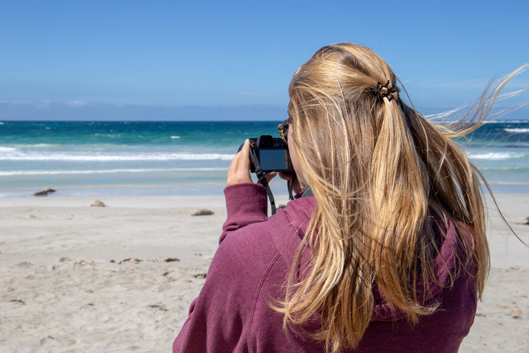
[[[283,114],[295,69],[342,41],[386,59],[418,107],[446,110],[529,63],[528,14],[529,1],[1,0],[0,120]],[[528,73],[510,89],[527,87]]]

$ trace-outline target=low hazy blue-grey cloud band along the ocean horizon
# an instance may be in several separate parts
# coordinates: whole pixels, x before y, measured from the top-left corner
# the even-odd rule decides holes
[[[283,121],[288,97],[281,104],[249,105],[134,105],[85,101],[0,101],[0,121]],[[452,106],[415,105],[422,114],[442,114]],[[495,111],[510,110],[495,106]],[[455,114],[457,116],[457,114]],[[528,120],[529,107],[510,112],[506,119]]]

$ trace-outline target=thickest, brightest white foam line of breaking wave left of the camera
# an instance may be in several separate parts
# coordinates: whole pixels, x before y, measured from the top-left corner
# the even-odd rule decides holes
[[[6,152],[14,152],[8,150]],[[229,161],[234,154],[220,153],[139,153],[139,154],[79,154],[56,152],[49,154],[25,152],[0,155],[0,161],[77,161],[77,162],[118,162],[118,161],[207,161],[219,159]]]

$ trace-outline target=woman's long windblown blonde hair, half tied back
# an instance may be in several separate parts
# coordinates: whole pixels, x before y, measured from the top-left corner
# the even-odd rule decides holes
[[[480,296],[489,270],[479,172],[450,139],[477,125],[436,125],[405,105],[398,90],[381,97],[387,81],[397,83],[377,54],[342,43],[316,52],[289,87],[293,142],[316,208],[286,297],[273,307],[284,314],[286,331],[322,314],[321,330],[311,334],[333,352],[359,343],[374,285],[411,323],[435,311],[417,296],[435,281],[435,219],[474,234],[458,241],[469,254],[460,261],[477,268]],[[470,121],[483,121],[501,88],[484,93]],[[307,247],[311,267],[299,275],[296,263]]]

